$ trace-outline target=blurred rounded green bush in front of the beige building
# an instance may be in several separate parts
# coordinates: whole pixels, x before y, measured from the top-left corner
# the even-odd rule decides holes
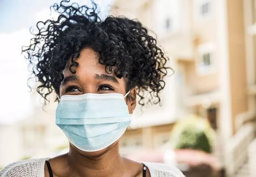
[[[207,119],[189,116],[177,122],[171,142],[176,149],[197,149],[212,152],[214,132]]]

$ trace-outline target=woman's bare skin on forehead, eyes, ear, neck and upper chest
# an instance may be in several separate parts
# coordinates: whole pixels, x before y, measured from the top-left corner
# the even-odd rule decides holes
[[[107,74],[105,65],[101,65],[98,59],[99,55],[93,49],[81,50],[79,58],[75,60],[79,66],[71,67],[76,71],[75,74],[69,70],[70,59],[63,70],[64,81],[60,85],[60,96],[84,93],[121,93],[125,95],[125,79],[117,78],[114,73]],[[129,95],[125,97],[125,102],[129,113],[132,113],[136,106],[135,88],[132,88]],[[142,164],[122,158],[119,154],[118,140],[98,152],[83,152],[70,143],[68,153],[54,157],[49,162],[53,176],[142,177]],[[44,174],[49,176],[46,164],[44,165]],[[147,169],[146,176],[150,176],[149,169]]]

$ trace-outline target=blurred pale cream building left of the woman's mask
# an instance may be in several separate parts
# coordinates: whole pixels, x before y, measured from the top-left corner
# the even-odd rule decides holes
[[[55,124],[53,102],[43,107],[43,98],[33,90],[31,111],[12,124],[0,124],[0,168],[17,160],[53,157],[68,151],[68,140]]]

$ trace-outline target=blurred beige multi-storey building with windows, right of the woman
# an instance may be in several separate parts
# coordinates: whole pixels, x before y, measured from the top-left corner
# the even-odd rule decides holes
[[[111,12],[137,18],[156,33],[176,72],[166,88],[176,96],[163,97],[177,107],[167,115],[190,112],[208,118],[217,133],[214,153],[228,176],[248,176],[255,165],[255,7],[254,0],[119,0]],[[147,124],[134,133],[146,142],[143,138],[158,132],[163,137],[170,124]],[[144,132],[149,135],[143,137]]]

